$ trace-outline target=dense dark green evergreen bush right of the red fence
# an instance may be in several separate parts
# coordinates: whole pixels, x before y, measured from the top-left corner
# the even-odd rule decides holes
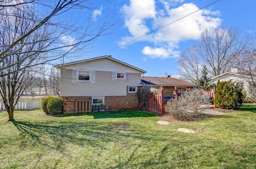
[[[238,88],[231,81],[222,81],[217,86],[214,102],[216,106],[226,109],[235,109],[242,105],[245,94],[243,88]]]

